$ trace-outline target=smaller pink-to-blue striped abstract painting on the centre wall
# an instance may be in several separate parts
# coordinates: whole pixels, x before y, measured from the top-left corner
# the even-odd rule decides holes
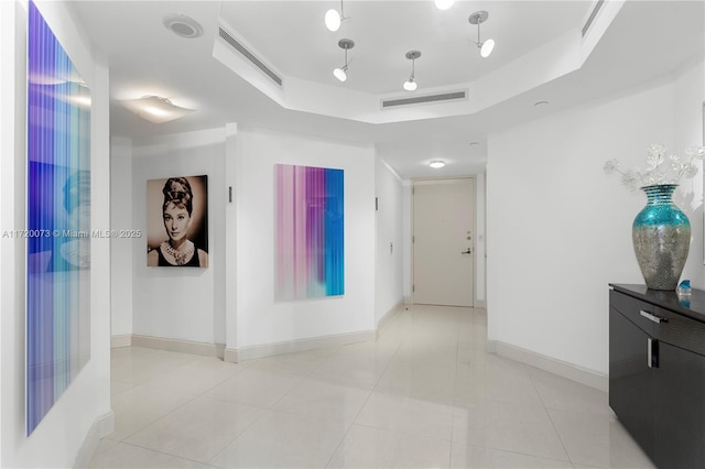
[[[275,165],[275,299],[345,293],[343,170]]]

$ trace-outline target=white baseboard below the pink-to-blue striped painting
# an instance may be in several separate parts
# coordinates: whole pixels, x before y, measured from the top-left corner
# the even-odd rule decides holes
[[[377,337],[375,330],[338,334],[335,336],[314,337],[311,339],[291,340],[286,342],[265,343],[261,346],[243,347],[241,349],[225,349],[224,361],[238,363],[254,358],[272,357],[284,353],[295,353],[327,347],[347,346],[350,343],[372,341]]]

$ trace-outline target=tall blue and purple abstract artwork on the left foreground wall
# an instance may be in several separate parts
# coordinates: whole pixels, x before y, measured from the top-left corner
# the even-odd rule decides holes
[[[28,25],[26,434],[90,359],[90,91],[33,2]]]

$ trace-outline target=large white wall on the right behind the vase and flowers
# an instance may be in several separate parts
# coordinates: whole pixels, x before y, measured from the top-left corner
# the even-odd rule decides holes
[[[693,121],[702,126],[702,83],[699,64],[675,84],[625,92],[490,135],[490,341],[607,373],[608,283],[643,283],[631,223],[646,197],[630,194],[619,177],[604,174],[603,165],[618,159],[623,167],[641,167],[651,143],[681,154],[699,143]],[[702,182],[679,190],[693,229],[683,276],[703,287]],[[688,197],[693,201],[684,205]]]

